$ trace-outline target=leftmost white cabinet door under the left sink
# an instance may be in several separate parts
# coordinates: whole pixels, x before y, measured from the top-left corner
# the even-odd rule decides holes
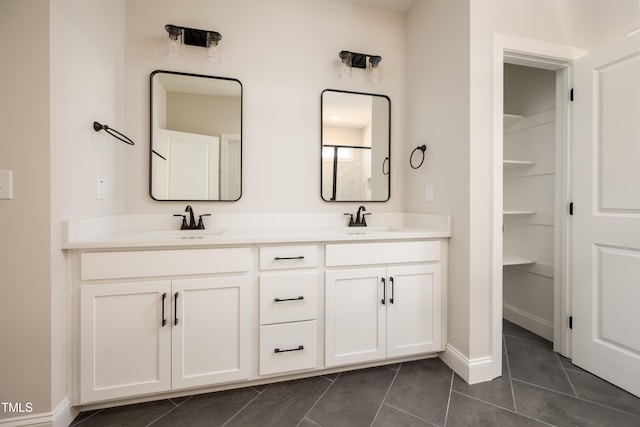
[[[81,288],[82,403],[171,388],[170,286],[162,281]]]

